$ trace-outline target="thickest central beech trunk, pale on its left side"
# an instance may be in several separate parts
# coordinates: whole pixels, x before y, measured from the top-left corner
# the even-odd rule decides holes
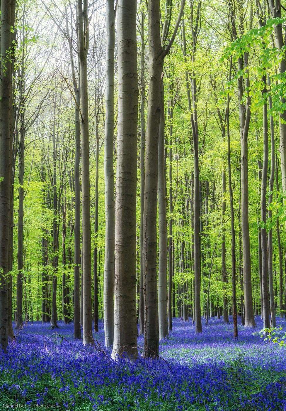
[[[118,137],[115,200],[115,301],[112,358],[137,358],[136,175],[137,46],[136,0],[118,2]],[[128,39],[128,41],[126,41]],[[157,314],[158,315],[158,314]]]

